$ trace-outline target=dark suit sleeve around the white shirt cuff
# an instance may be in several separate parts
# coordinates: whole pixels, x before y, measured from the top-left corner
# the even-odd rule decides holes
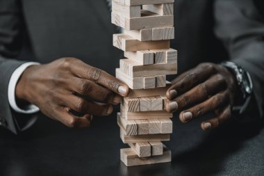
[[[18,0],[0,1],[0,125],[15,134],[28,126],[27,120],[24,122],[22,119],[29,119],[26,115],[15,113],[8,102],[10,77],[24,63],[14,59],[22,47],[23,22],[20,10]]]

